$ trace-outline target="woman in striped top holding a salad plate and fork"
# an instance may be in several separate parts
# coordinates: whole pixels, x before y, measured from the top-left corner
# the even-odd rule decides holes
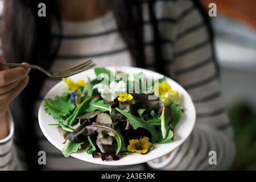
[[[40,2],[46,3],[46,17],[38,16]],[[8,0],[1,23],[8,62],[25,60],[55,71],[90,58],[98,66],[152,69],[187,89],[197,121],[182,146],[147,164],[106,168],[64,159],[44,138],[36,118],[42,97],[59,80],[30,69],[0,67],[0,169],[220,170],[231,165],[232,128],[221,104],[212,32],[197,1]],[[39,166],[39,151],[46,151],[46,165]],[[210,151],[216,151],[216,165],[209,164]]]

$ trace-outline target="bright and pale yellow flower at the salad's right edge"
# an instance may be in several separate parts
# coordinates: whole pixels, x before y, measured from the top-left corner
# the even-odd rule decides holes
[[[166,81],[156,83],[154,85],[154,90],[155,95],[166,105],[170,105],[172,102],[175,102],[176,104],[180,104],[181,102],[179,93],[176,90],[172,90],[171,86]]]

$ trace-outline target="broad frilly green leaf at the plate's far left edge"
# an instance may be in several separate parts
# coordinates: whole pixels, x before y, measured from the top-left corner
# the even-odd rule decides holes
[[[55,100],[46,98],[44,101],[46,102],[44,110],[55,119],[68,117],[76,107],[69,98],[57,96]]]

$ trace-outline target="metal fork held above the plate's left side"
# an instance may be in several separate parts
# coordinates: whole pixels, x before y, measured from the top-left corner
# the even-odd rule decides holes
[[[65,78],[72,75],[75,75],[77,73],[80,73],[82,71],[85,71],[87,69],[95,67],[96,64],[93,64],[92,60],[85,61],[82,64],[77,65],[76,67],[70,68],[70,69],[64,69],[63,71],[59,72],[51,72],[46,71],[46,69],[39,67],[38,65],[32,65],[32,64],[17,64],[17,63],[0,63],[0,67],[23,67],[23,68],[32,68],[32,69],[38,69],[39,71],[42,71],[46,73],[47,76],[51,78]]]

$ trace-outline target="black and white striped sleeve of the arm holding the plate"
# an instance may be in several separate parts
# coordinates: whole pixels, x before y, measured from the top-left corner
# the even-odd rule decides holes
[[[195,104],[196,125],[189,138],[171,155],[148,165],[166,170],[229,169],[235,153],[233,131],[222,105],[220,76],[209,30],[196,7],[176,26],[173,67],[177,82]],[[217,164],[209,164],[210,151],[216,152]]]

